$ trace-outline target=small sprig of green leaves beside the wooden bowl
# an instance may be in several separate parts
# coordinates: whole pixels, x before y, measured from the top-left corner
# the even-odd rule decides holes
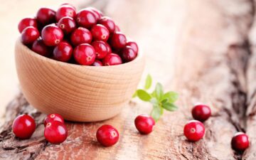
[[[147,75],[144,90],[137,90],[133,97],[139,97],[140,100],[150,102],[153,105],[150,115],[157,122],[161,115],[164,114],[164,110],[175,111],[178,109],[178,107],[174,105],[174,102],[178,100],[178,93],[172,91],[164,92],[164,87],[159,82],[156,83],[154,91],[149,93],[148,90],[150,89],[151,85],[151,75]]]

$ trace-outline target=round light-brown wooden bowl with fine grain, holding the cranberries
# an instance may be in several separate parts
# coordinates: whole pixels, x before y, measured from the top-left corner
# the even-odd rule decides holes
[[[112,66],[62,63],[24,46],[15,48],[16,70],[28,102],[46,114],[76,122],[95,122],[117,115],[131,100],[144,70],[144,57]]]

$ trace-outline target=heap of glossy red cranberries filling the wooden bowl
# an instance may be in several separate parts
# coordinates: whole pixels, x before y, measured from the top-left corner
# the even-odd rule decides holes
[[[134,60],[139,51],[112,18],[92,7],[78,12],[71,4],[57,11],[41,8],[35,18],[23,18],[18,31],[31,50],[66,63],[119,65]]]

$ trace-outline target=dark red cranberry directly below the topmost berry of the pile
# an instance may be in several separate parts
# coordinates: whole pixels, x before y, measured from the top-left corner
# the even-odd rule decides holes
[[[61,28],[65,34],[69,34],[76,28],[75,20],[71,17],[65,16],[58,21],[58,27]]]

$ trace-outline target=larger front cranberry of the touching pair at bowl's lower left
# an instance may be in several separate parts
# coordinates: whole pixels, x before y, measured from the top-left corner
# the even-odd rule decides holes
[[[62,122],[48,122],[44,130],[44,137],[51,144],[60,144],[67,139],[68,130]]]

